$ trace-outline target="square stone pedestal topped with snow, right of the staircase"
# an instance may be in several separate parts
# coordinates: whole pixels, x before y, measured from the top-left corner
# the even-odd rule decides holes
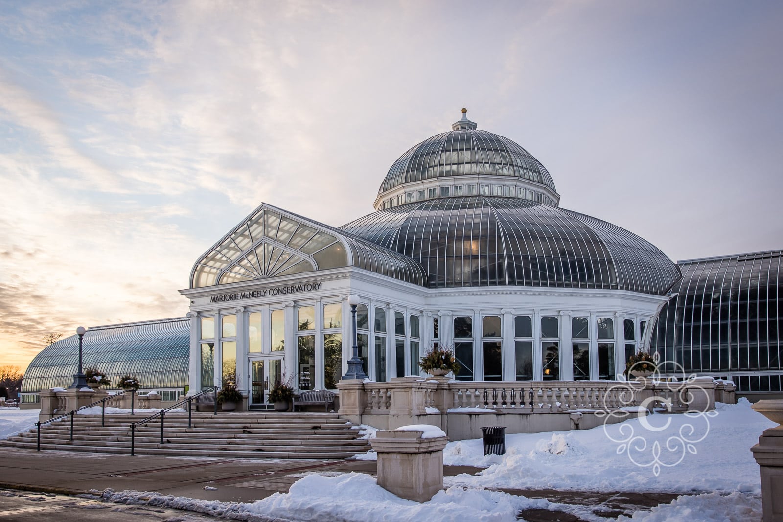
[[[446,437],[421,438],[423,433],[378,431],[370,439],[378,453],[378,485],[415,502],[427,502],[443,489]]]

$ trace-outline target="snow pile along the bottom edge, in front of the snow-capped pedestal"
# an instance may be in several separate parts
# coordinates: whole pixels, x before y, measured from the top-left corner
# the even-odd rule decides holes
[[[543,499],[527,499],[500,491],[449,488],[439,491],[429,502],[400,499],[381,486],[370,475],[345,473],[337,477],[312,474],[295,482],[288,493],[275,493],[252,503],[216,502],[186,499],[172,495],[141,491],[106,490],[101,495],[108,502],[146,503],[176,509],[208,513],[213,517],[243,520],[243,514],[278,517],[282,520],[379,520],[391,522],[503,522],[517,520],[521,509],[554,506]],[[339,499],[351,499],[340,502]]]

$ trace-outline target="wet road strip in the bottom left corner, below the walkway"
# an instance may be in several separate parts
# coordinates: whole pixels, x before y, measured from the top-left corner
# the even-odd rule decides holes
[[[55,493],[0,489],[0,522],[207,522],[198,513],[150,506],[107,504]]]

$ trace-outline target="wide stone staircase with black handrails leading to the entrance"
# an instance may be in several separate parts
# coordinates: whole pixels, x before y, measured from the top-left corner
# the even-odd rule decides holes
[[[74,416],[74,440],[68,417],[41,426],[41,450],[131,453],[131,423],[145,416]],[[231,412],[186,413],[165,418],[164,444],[161,419],[136,427],[136,455],[177,455],[251,459],[345,459],[370,449],[359,427],[337,413]],[[2,446],[36,448],[35,429],[0,441]]]

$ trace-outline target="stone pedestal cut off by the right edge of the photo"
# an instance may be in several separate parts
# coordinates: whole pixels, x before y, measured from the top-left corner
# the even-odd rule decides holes
[[[783,400],[758,401],[752,408],[778,424],[783,422]],[[780,522],[783,520],[783,427],[764,430],[759,444],[750,450],[761,466],[763,522]]]

